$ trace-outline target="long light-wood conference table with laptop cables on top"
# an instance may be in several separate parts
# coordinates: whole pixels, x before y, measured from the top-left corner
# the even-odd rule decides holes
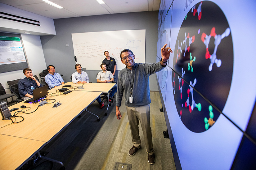
[[[56,89],[53,88],[49,91],[55,90]],[[1,164],[0,162],[0,169],[2,169],[2,166],[3,169],[18,169],[35,154],[40,154],[39,151],[47,143],[49,143],[63,129],[65,129],[65,127],[69,125],[76,117],[78,117],[80,113],[85,110],[87,111],[87,107],[101,94],[102,92],[94,91],[72,91],[66,95],[48,95],[47,99],[55,99],[56,101],[48,100],[49,104],[39,107],[38,105],[40,103],[32,104],[24,102],[10,106],[10,110],[11,108],[19,108],[16,111],[22,110],[20,108],[21,105],[25,105],[27,108],[31,107],[28,111],[25,111],[25,108],[23,110],[25,113],[30,113],[36,110],[37,107],[38,109],[34,113],[30,114],[18,113],[17,116],[22,116],[25,118],[24,121],[20,123],[12,123],[11,125],[8,125],[11,123],[11,120],[0,120],[0,127],[2,127],[0,128],[1,162],[13,164],[13,162],[10,162],[9,158],[15,162],[15,165],[13,165],[14,168],[6,168],[10,165]],[[53,108],[53,104],[58,101],[61,103],[61,105],[57,108]],[[11,112],[11,114],[13,115],[16,111]],[[20,117],[16,117],[16,119],[17,121],[22,120]],[[13,144],[13,148],[11,147],[9,150],[7,147],[10,147],[10,143],[15,144]],[[5,147],[5,145],[7,147]],[[25,155],[23,155],[24,149],[26,150]],[[45,157],[42,158],[59,163],[63,166],[60,161]]]

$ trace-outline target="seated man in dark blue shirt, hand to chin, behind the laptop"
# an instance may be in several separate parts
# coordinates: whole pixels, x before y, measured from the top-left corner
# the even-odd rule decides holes
[[[37,87],[41,87],[42,85],[33,76],[31,69],[25,68],[23,69],[23,73],[26,77],[19,81],[18,90],[19,90],[20,97],[23,100],[27,100],[33,97],[33,90]]]

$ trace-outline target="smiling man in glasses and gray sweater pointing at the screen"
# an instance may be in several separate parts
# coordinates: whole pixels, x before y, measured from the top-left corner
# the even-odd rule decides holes
[[[149,164],[155,163],[154,148],[152,143],[152,134],[150,127],[150,89],[149,75],[163,70],[170,57],[170,47],[167,44],[161,48],[162,58],[157,63],[135,63],[135,55],[129,49],[124,49],[120,53],[121,61],[126,67],[120,71],[117,81],[116,95],[116,117],[120,120],[122,117],[119,107],[124,95],[127,116],[132,134],[133,146],[129,155],[133,156],[141,147],[139,136],[139,121],[144,135],[146,152],[148,153]]]

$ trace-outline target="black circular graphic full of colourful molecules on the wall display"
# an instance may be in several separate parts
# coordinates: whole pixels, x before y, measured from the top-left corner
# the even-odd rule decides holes
[[[214,107],[222,111],[226,104],[233,73],[231,30],[215,3],[199,2],[187,13],[175,44],[173,70],[181,121],[193,132],[208,130],[220,115]]]

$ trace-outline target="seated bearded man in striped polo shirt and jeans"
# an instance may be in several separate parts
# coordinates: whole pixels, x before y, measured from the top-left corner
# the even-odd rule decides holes
[[[111,71],[107,71],[107,67],[106,64],[102,63],[101,64],[101,69],[102,71],[100,71],[97,75],[97,83],[110,83],[114,81],[114,76],[111,73]],[[109,97],[113,97],[115,92],[117,90],[117,85],[115,84],[115,86],[113,87],[112,91],[109,94]]]

